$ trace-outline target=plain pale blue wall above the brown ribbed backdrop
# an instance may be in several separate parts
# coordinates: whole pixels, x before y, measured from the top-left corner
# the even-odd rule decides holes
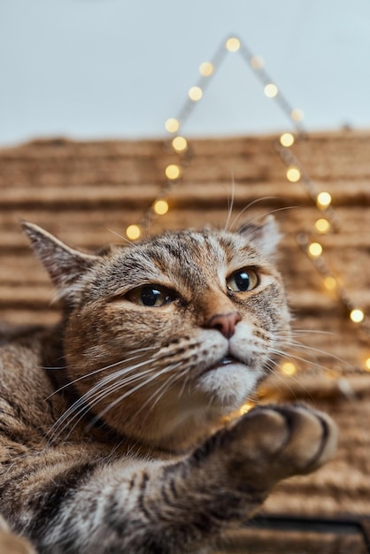
[[[367,0],[0,0],[0,146],[160,137],[229,35],[264,58],[309,130],[369,127]],[[239,55],[206,95],[189,136],[289,126]]]

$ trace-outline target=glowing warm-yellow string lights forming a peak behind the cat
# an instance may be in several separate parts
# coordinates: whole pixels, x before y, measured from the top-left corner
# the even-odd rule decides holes
[[[302,127],[302,120],[304,119],[304,112],[300,108],[291,108],[288,101],[282,96],[281,91],[271,80],[266,70],[261,71],[265,67],[265,62],[260,56],[254,56],[251,51],[248,50],[245,44],[242,44],[235,36],[229,37],[227,41],[222,45],[222,48],[218,50],[210,62],[204,62],[199,65],[199,73],[201,79],[197,86],[189,88],[188,100],[184,104],[182,110],[179,112],[177,118],[170,118],[166,120],[166,131],[170,134],[177,134],[183,122],[189,118],[189,114],[194,108],[194,105],[203,97],[204,88],[208,86],[216,69],[220,66],[220,62],[224,59],[228,52],[240,51],[240,54],[245,59],[251,69],[256,72],[256,75],[263,84],[263,90],[265,96],[268,98],[275,98],[275,101],[280,105],[281,110],[287,114],[289,119],[293,122],[295,127],[295,135],[292,133],[283,133],[280,138],[275,142],[275,150],[280,158],[288,166],[286,171],[286,177],[289,182],[300,181],[304,189],[307,190],[309,196],[316,203],[317,207],[325,212],[325,218],[317,219],[314,224],[315,232],[320,235],[325,235],[332,229],[337,231],[340,227],[340,219],[336,215],[334,209],[331,206],[332,198],[327,191],[321,191],[317,194],[315,185],[304,171],[303,166],[291,152],[290,147],[298,140],[305,138],[304,128]],[[172,182],[180,182],[182,170],[189,165],[191,159],[191,151],[189,151],[188,141],[181,135],[174,136],[171,140],[172,149],[179,156],[181,155],[181,162],[179,164],[167,165],[165,173],[168,183],[165,184],[158,199],[151,204],[150,208],[144,214],[141,224],[145,222],[148,225],[150,222],[150,214],[163,215],[168,212],[169,206],[164,198],[166,192],[173,186]],[[142,228],[139,225],[132,225],[127,227],[127,237],[130,240],[136,240],[140,237]],[[340,281],[338,281],[335,275],[330,271],[324,257],[323,248],[319,242],[310,242],[305,233],[300,233],[301,237],[297,242],[300,243],[304,252],[309,258],[312,259],[312,263],[316,269],[322,274],[323,283],[328,291],[335,290],[338,298],[343,302],[350,313],[350,318],[354,323],[358,323],[363,326],[367,331],[370,327],[364,324],[366,321],[365,314],[359,308],[352,309],[351,301],[343,290]],[[303,237],[303,238],[302,238]],[[366,370],[370,371],[370,357],[366,359]],[[297,372],[297,367],[291,362],[285,362],[281,365],[281,373],[286,375],[292,375]],[[253,404],[247,403],[242,410],[247,411],[251,409]],[[251,406],[251,407],[250,407]]]

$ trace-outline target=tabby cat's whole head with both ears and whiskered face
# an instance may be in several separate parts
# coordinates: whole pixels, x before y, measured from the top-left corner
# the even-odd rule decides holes
[[[287,337],[271,221],[166,233],[100,256],[27,228],[66,300],[69,378],[123,434],[171,445],[237,409]]]

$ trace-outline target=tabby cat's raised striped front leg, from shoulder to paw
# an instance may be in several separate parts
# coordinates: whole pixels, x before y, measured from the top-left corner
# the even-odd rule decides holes
[[[118,459],[55,475],[27,492],[34,513],[23,533],[42,554],[205,552],[276,482],[327,461],[335,442],[320,412],[257,408],[174,463]]]

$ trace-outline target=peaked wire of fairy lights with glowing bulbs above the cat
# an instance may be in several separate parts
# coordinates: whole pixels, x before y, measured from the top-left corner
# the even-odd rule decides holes
[[[191,164],[194,158],[189,141],[181,134],[181,127],[189,119],[197,102],[204,96],[204,91],[210,86],[212,77],[220,70],[220,66],[227,58],[229,53],[238,52],[246,64],[255,73],[258,81],[261,82],[264,94],[267,98],[274,98],[276,104],[290,120],[294,131],[283,133],[278,139],[274,140],[274,150],[286,165],[286,178],[291,183],[299,183],[311,197],[312,202],[320,211],[320,218],[314,224],[312,232],[301,231],[297,235],[297,243],[311,260],[315,269],[323,278],[324,286],[328,291],[335,291],[337,298],[342,302],[351,321],[361,327],[367,335],[370,336],[370,322],[365,312],[353,304],[351,297],[343,288],[340,279],[332,271],[324,256],[324,249],[319,239],[312,239],[312,235],[326,235],[330,232],[339,232],[342,227],[342,221],[332,206],[332,196],[326,190],[318,192],[318,186],[312,181],[310,175],[305,171],[304,165],[300,162],[291,147],[297,143],[307,140],[308,135],[304,128],[304,112],[299,108],[294,108],[287,98],[282,94],[281,89],[277,87],[271,75],[266,72],[263,58],[254,55],[240,38],[230,36],[226,41],[221,42],[210,62],[204,62],[199,65],[200,77],[196,84],[189,88],[188,98],[182,104],[176,117],[166,119],[165,127],[169,135],[166,141],[165,150],[169,153],[178,155],[178,162],[169,164],[165,169],[166,181],[161,186],[157,198],[150,204],[150,207],[143,213],[142,219],[138,224],[127,227],[127,237],[135,241],[143,231],[148,230],[153,217],[165,215],[169,210],[167,201],[173,187],[181,183],[181,177],[185,169]],[[362,365],[362,364],[361,364]],[[366,358],[364,369],[370,371],[370,352]],[[284,362],[281,365],[281,372],[287,375],[296,373],[297,368],[292,362]]]

